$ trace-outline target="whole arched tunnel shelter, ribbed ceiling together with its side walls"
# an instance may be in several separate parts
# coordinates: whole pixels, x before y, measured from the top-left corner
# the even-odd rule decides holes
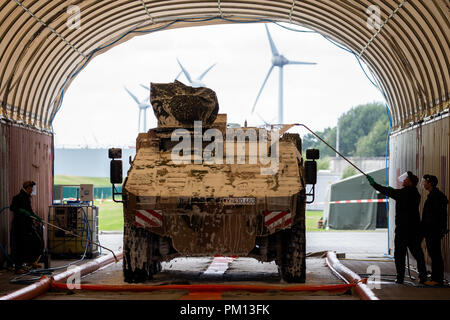
[[[32,179],[38,183],[34,208],[47,215],[52,121],[63,93],[89,61],[151,30],[243,21],[307,27],[353,51],[391,110],[390,185],[406,170],[419,177],[430,173],[449,197],[449,13],[447,0],[1,0],[0,209]],[[2,245],[8,236],[6,210],[0,216]],[[443,246],[448,273],[449,235]]]

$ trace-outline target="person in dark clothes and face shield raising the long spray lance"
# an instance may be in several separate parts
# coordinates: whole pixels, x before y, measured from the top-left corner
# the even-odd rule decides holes
[[[402,178],[403,188],[394,189],[383,187],[376,183],[371,176],[367,176],[370,185],[380,193],[395,200],[395,238],[394,238],[394,260],[397,270],[396,283],[403,283],[405,277],[406,250],[409,248],[411,254],[417,261],[420,283],[427,280],[427,269],[425,258],[420,246],[420,194],[417,190],[419,179],[411,171],[405,173]],[[400,177],[402,177],[400,176]]]

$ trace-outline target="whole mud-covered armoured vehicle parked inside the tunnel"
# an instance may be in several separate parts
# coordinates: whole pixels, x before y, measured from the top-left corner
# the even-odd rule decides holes
[[[177,256],[235,255],[276,261],[285,281],[304,282],[307,181],[299,135],[227,128],[214,91],[178,81],[152,83],[151,103],[158,127],[137,137],[122,187],[125,281],[151,279],[161,261]],[[262,161],[265,152],[277,160],[275,170]],[[121,183],[121,164],[112,162],[111,182]]]

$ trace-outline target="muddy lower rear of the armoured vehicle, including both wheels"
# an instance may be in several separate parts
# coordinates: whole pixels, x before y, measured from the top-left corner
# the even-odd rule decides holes
[[[129,196],[132,198],[132,196]],[[292,200],[292,201],[291,201]],[[278,202],[281,200],[278,199]],[[291,197],[289,213],[278,210],[279,223],[273,214],[259,211],[257,205],[190,205],[182,208],[125,209],[124,277],[128,282],[142,282],[159,272],[161,261],[177,256],[249,256],[260,261],[275,261],[288,282],[305,282],[306,237],[305,202],[299,193]],[[166,204],[167,206],[167,204]],[[178,204],[180,206],[180,204]],[[198,206],[191,210],[193,206]],[[170,207],[170,206],[168,206]],[[201,208],[201,209],[200,209]],[[233,210],[234,209],[234,210]],[[205,210],[205,211],[204,211]],[[291,211],[292,210],[292,211]],[[147,214],[136,214],[146,211]],[[228,212],[227,212],[228,211]],[[156,218],[144,216],[156,213]],[[268,219],[269,217],[270,219]],[[153,219],[153,220],[152,220]],[[138,221],[138,222],[136,222]]]

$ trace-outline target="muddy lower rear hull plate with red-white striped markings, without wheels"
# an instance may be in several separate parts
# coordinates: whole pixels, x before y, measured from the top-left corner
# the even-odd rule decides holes
[[[304,219],[298,194],[274,198],[136,197],[128,195],[125,225],[171,239],[180,255],[247,256],[256,237]]]

